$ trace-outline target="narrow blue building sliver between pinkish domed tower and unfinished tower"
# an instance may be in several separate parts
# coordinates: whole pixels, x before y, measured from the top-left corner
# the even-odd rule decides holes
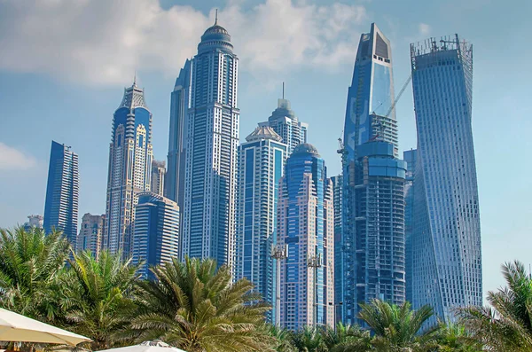
[[[342,202],[343,202],[343,179],[342,176],[332,176],[332,206],[334,207],[334,323],[341,321],[341,308],[343,306],[342,292],[343,292],[343,271],[341,265],[336,265],[340,262],[342,252]]]

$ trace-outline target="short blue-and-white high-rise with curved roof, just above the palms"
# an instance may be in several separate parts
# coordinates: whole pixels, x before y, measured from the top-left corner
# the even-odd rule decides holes
[[[140,193],[135,207],[132,262],[143,262],[139,273],[150,278],[149,268],[179,257],[179,207],[153,192]]]

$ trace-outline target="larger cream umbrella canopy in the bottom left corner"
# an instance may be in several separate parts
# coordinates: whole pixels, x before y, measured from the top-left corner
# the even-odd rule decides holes
[[[75,346],[89,338],[0,308],[0,341],[61,343]]]

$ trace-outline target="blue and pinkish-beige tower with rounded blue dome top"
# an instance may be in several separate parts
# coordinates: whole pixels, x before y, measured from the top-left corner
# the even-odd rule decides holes
[[[278,243],[287,246],[280,273],[280,325],[334,324],[332,182],[313,145],[286,160],[278,199]]]

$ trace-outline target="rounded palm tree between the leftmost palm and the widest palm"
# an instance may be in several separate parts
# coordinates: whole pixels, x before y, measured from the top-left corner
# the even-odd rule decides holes
[[[90,251],[73,254],[70,269],[60,280],[61,306],[74,332],[90,337],[92,349],[113,347],[113,337],[129,324],[135,310],[132,291],[139,278],[137,266],[121,254]]]

